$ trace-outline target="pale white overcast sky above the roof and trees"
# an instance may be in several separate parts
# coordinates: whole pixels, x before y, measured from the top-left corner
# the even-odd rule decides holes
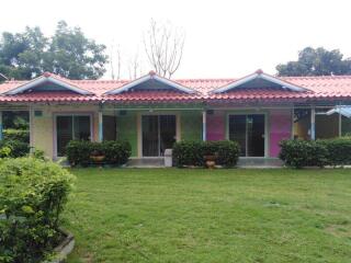
[[[350,0],[2,0],[0,11],[0,32],[29,25],[50,35],[65,20],[105,44],[107,55],[115,57],[120,46],[123,78],[136,54],[141,73],[151,69],[143,44],[150,19],[185,34],[174,78],[237,78],[259,68],[274,75],[276,65],[296,60],[306,46],[351,57]]]

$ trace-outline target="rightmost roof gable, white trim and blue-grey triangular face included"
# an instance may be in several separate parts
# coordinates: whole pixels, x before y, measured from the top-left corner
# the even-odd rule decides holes
[[[223,93],[234,89],[256,89],[256,88],[279,88],[290,91],[307,91],[307,89],[293,84],[291,82],[284,81],[276,77],[264,73],[261,69],[257,70],[254,73],[244,77],[241,79],[235,80],[224,87],[213,90],[211,93]]]

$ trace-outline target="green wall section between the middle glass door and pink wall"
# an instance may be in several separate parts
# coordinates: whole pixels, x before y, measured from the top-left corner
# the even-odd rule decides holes
[[[202,140],[202,112],[182,111],[180,123],[182,140]]]

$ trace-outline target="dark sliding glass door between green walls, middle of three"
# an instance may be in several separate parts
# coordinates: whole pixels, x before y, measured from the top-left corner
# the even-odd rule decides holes
[[[176,142],[176,115],[144,115],[141,129],[143,156],[163,156]]]

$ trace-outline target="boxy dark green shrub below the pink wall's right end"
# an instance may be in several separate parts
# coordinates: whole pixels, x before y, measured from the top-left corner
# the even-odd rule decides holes
[[[280,158],[288,167],[320,167],[328,163],[328,149],[314,140],[283,140],[280,142]]]

